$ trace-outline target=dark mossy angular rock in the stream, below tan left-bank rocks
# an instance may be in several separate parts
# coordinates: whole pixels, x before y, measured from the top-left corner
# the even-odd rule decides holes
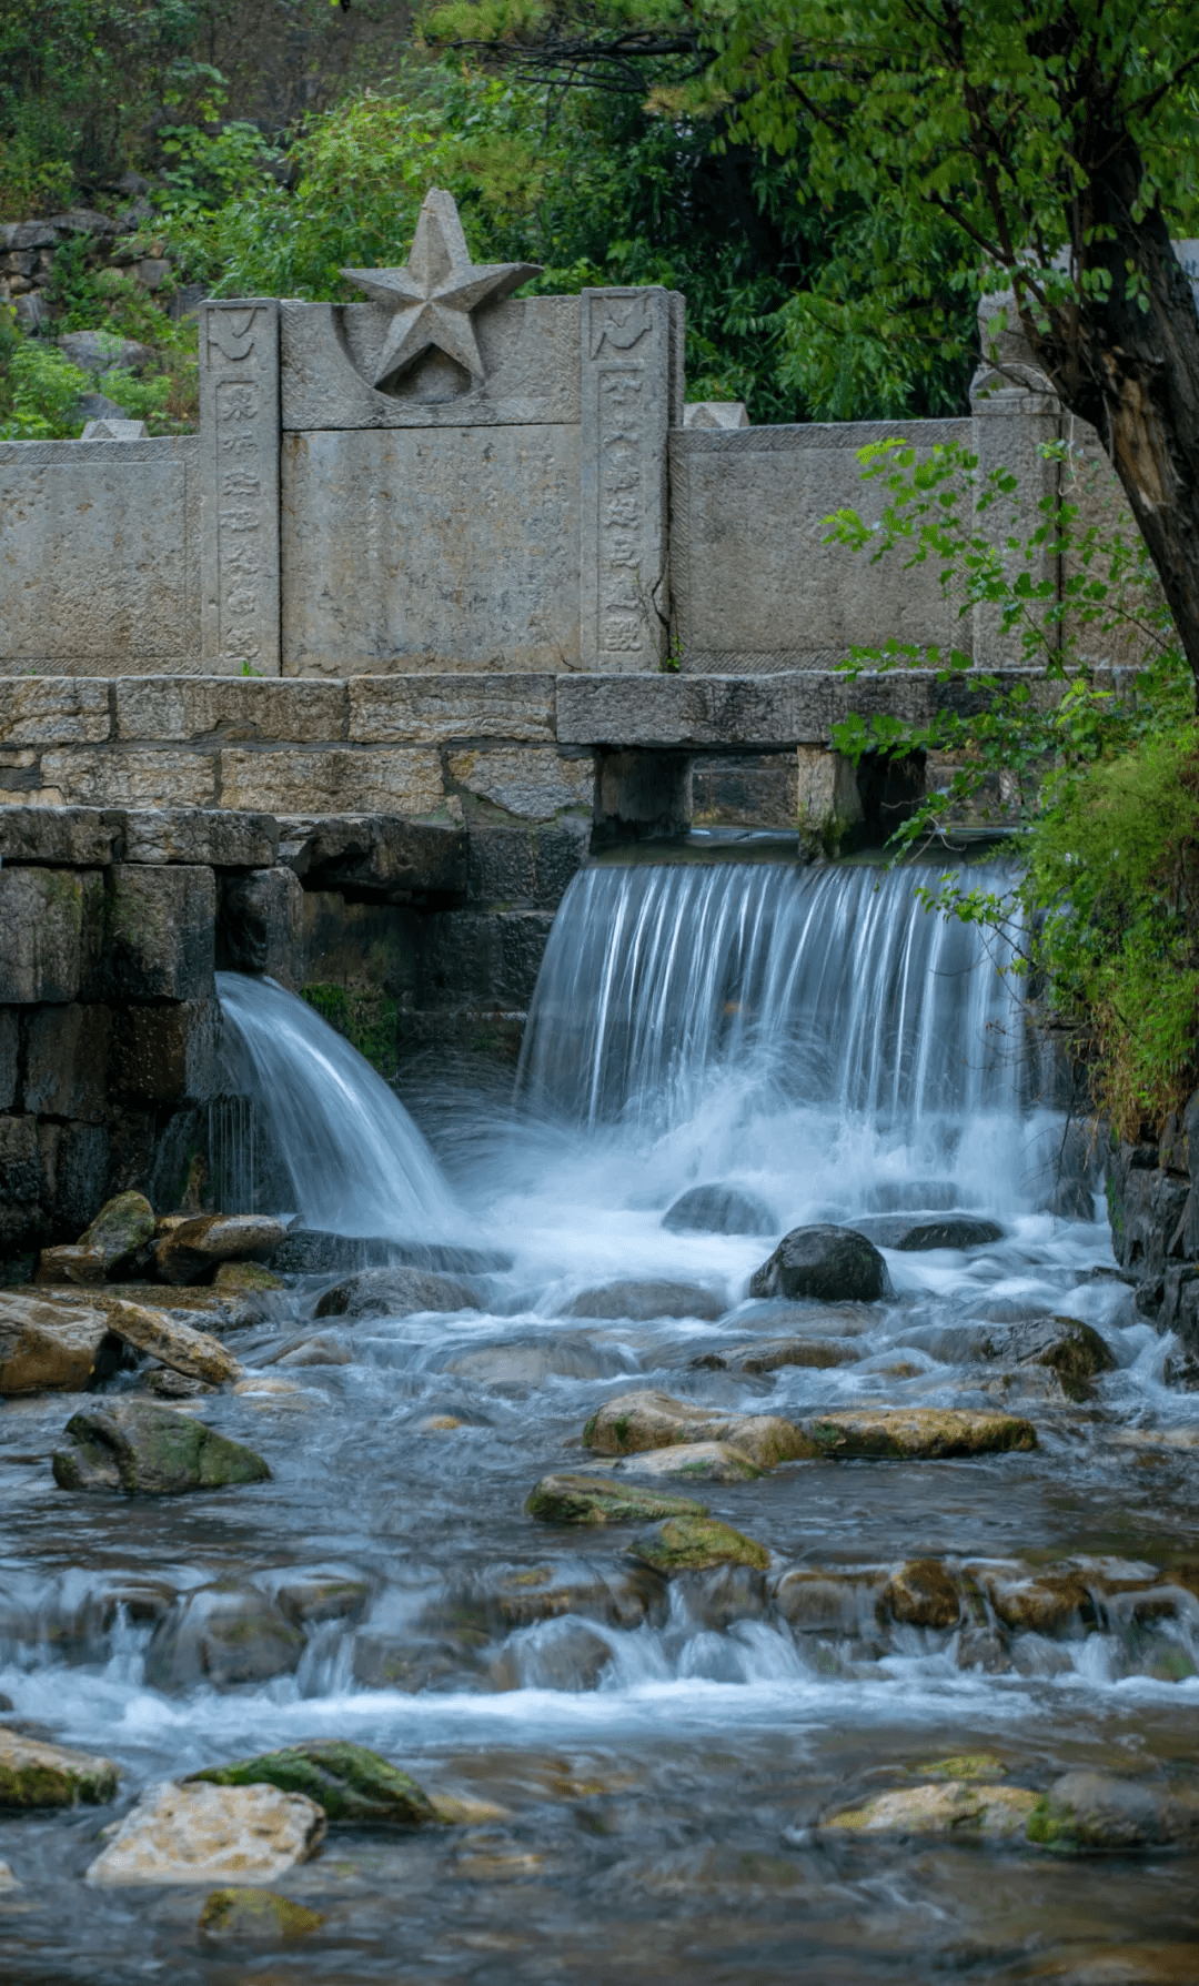
[[[252,1448],[149,1400],[105,1400],[71,1414],[64,1434],[69,1446],[54,1456],[60,1490],[183,1495],[270,1480]]]

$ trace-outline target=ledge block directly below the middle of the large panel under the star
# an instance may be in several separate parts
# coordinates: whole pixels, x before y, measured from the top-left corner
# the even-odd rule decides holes
[[[552,675],[355,675],[347,687],[361,745],[554,737]]]

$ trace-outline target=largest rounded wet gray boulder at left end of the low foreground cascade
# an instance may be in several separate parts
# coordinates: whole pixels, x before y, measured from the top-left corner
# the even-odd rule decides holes
[[[159,1623],[145,1656],[153,1690],[214,1690],[288,1676],[306,1638],[264,1593],[252,1587],[200,1587]]]

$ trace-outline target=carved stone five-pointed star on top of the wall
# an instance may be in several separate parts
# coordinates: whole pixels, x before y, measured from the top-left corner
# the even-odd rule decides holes
[[[530,276],[536,262],[486,262],[474,266],[453,193],[433,187],[425,195],[407,268],[343,268],[343,276],[377,304],[393,304],[375,385],[383,387],[407,371],[431,346],[447,352],[482,385],[482,357],[470,312],[482,302],[510,296]]]

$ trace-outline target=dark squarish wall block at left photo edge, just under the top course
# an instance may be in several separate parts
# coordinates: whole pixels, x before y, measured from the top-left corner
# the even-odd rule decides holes
[[[97,870],[0,868],[0,1001],[79,999],[101,898]]]

